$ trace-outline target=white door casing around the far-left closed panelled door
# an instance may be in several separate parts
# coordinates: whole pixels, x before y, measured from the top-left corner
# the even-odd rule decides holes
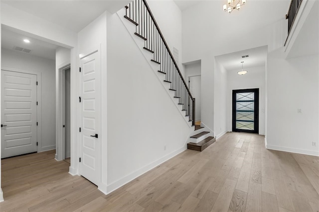
[[[9,67],[3,67],[1,68],[1,71],[12,71],[12,72],[19,72],[19,73],[27,73],[27,74],[33,74],[36,75],[36,81],[38,82],[38,85],[36,86],[36,100],[38,102],[38,105],[36,107],[36,121],[38,122],[38,126],[36,128],[36,141],[38,142],[37,146],[37,152],[45,151],[46,149],[42,149],[42,100],[41,100],[41,72],[36,71],[27,71],[27,70],[21,70],[21,69],[14,69]],[[2,99],[1,99],[2,101]],[[0,155],[1,157],[1,155]]]

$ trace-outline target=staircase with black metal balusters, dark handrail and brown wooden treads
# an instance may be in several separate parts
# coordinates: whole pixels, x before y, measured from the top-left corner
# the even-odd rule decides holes
[[[143,51],[147,52],[143,54],[152,54],[152,67],[157,70],[164,87],[172,95],[192,129],[187,148],[202,151],[215,139],[209,136],[210,132],[203,131],[204,128],[195,126],[195,98],[192,97],[146,0],[134,0],[125,6],[124,18],[134,26],[134,34],[140,40],[136,41],[137,44],[143,42]],[[197,132],[197,135],[193,135],[193,132]]]

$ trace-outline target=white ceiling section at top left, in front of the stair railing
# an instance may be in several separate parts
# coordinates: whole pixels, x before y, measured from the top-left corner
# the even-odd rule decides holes
[[[131,0],[1,0],[74,32],[79,32],[105,10],[111,13]]]

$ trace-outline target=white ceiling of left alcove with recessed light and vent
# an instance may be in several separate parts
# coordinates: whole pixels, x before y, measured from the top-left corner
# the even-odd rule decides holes
[[[24,39],[28,39],[30,43],[23,42]],[[22,54],[29,54],[55,60],[55,50],[58,46],[16,32],[12,32],[6,27],[1,27],[1,48],[16,51],[13,50],[14,47],[21,47],[31,50],[30,53],[22,52]]]

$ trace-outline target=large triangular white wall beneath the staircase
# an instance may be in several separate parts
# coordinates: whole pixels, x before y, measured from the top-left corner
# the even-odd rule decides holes
[[[108,14],[108,192],[184,150],[189,136],[132,36],[119,16]]]

